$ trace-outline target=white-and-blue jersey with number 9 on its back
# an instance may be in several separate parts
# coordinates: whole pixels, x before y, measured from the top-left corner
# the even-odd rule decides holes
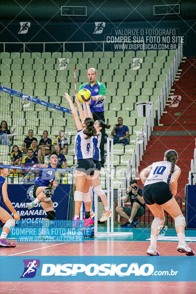
[[[85,139],[84,129],[75,135],[75,159],[87,159],[93,157],[93,137]]]

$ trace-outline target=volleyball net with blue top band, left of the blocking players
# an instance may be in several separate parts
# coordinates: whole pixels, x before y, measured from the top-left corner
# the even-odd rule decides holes
[[[74,136],[76,127],[70,109],[0,85],[0,122],[3,121],[7,123],[6,128],[9,131],[5,134],[2,126],[0,127],[0,162],[9,166],[10,180],[8,182],[23,182],[24,178],[25,182],[28,182],[36,176],[31,166],[37,162],[36,160],[29,160],[27,152],[29,147],[32,148],[33,157],[38,158],[39,144],[40,140],[43,141],[44,131],[48,132],[47,139],[51,140],[51,146],[46,147],[46,150],[48,150],[46,153],[53,150],[58,153],[64,149],[63,155],[67,161],[67,168],[65,169],[65,160],[60,160],[58,168],[61,169],[61,173],[59,174],[65,177],[65,173],[73,171],[75,167]],[[25,138],[29,136],[29,130],[33,131],[33,138],[36,138],[34,141],[37,144],[36,142],[34,142],[34,145],[31,142],[28,143],[29,146],[26,143],[24,144]],[[55,147],[56,145],[59,148]],[[15,146],[22,152],[23,160],[22,163],[15,163],[16,165],[13,166],[13,156],[17,158],[17,152],[15,155],[12,153]],[[38,159],[39,163],[48,164],[49,154]],[[20,168],[18,168],[19,165]],[[18,181],[19,174],[20,181]],[[32,176],[29,176],[30,174]],[[63,183],[67,183],[67,180],[68,178],[64,178]]]

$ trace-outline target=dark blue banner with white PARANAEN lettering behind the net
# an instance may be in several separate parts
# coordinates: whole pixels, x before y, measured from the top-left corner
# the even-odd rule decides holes
[[[35,199],[33,197],[34,186],[35,184],[7,185],[8,197],[13,207],[20,214],[21,220],[25,219],[38,221],[46,218],[46,212],[42,208],[41,203],[36,204],[31,210],[28,210],[26,207],[26,202],[31,202]],[[56,220],[68,219],[70,191],[70,184],[59,184],[58,188],[54,191],[52,202],[56,212]],[[2,197],[0,199],[0,206],[10,213],[7,206],[4,204]],[[2,225],[2,222],[0,222],[0,226]]]

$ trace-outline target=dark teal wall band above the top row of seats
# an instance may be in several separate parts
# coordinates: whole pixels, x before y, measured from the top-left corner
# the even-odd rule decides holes
[[[193,20],[140,21],[140,22],[71,22],[39,23],[35,21],[15,21],[0,24],[1,42],[6,44],[5,51],[105,51],[118,50],[170,50],[183,43],[184,56],[196,56],[196,42]],[[34,42],[36,44],[31,44]],[[39,44],[41,42],[41,44]],[[63,45],[63,42],[66,42]],[[74,42],[74,43],[73,43]],[[78,42],[78,43],[77,43]],[[91,43],[82,43],[91,42]],[[84,46],[84,47],[83,47]],[[0,51],[3,51],[0,44]]]

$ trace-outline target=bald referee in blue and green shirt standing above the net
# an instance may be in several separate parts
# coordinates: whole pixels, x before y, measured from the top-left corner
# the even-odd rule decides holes
[[[97,81],[97,70],[90,68],[87,72],[89,82],[82,84],[79,88],[88,89],[91,91],[91,105],[90,109],[93,114],[94,121],[101,120],[105,122],[104,118],[104,106],[103,101],[105,99],[106,88],[105,85]],[[101,156],[101,167],[104,166],[104,139],[105,139],[105,128],[101,131],[101,142],[100,142],[100,156]]]

